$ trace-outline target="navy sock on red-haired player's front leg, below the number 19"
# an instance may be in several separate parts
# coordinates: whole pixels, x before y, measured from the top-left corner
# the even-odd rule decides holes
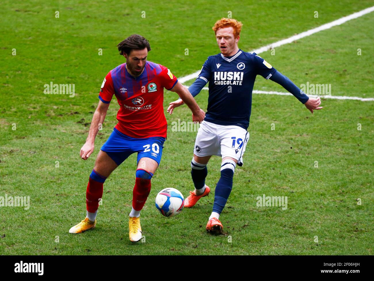
[[[229,164],[230,165],[230,164]],[[221,178],[215,187],[213,212],[221,214],[233,187],[233,169],[222,169]]]

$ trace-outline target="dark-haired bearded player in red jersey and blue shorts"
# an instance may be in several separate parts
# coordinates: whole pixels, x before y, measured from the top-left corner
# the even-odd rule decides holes
[[[144,37],[134,34],[117,45],[126,63],[105,76],[99,93],[99,104],[93,114],[86,143],[80,157],[88,159],[93,152],[99,126],[104,122],[110,101],[116,96],[120,109],[118,123],[101,147],[86,191],[87,216],[71,227],[70,233],[94,228],[105,179],[132,153],[137,153],[137,170],[129,214],[129,238],[142,238],[140,211],[151,190],[151,178],[160,164],[166,140],[166,118],[163,112],[163,89],[176,92],[192,111],[192,120],[201,122],[205,113],[187,88],[163,65],[147,61],[151,50]]]

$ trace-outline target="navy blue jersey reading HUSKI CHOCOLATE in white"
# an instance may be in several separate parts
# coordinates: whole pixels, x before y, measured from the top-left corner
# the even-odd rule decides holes
[[[205,120],[218,125],[249,126],[252,90],[259,74],[269,79],[276,69],[255,53],[239,51],[233,56],[209,56],[196,79],[209,82]]]

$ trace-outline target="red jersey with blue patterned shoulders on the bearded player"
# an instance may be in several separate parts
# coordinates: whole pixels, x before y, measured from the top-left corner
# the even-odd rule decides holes
[[[163,112],[163,89],[178,82],[171,71],[151,61],[137,78],[131,76],[126,63],[111,70],[102,82],[99,99],[110,103],[116,96],[120,109],[116,129],[133,138],[165,137],[167,123]]]

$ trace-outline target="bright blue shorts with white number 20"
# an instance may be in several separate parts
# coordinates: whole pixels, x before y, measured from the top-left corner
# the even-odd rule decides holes
[[[120,165],[135,152],[138,153],[137,162],[141,158],[147,157],[160,165],[164,141],[163,137],[132,138],[114,128],[101,150],[105,151],[117,165]]]

